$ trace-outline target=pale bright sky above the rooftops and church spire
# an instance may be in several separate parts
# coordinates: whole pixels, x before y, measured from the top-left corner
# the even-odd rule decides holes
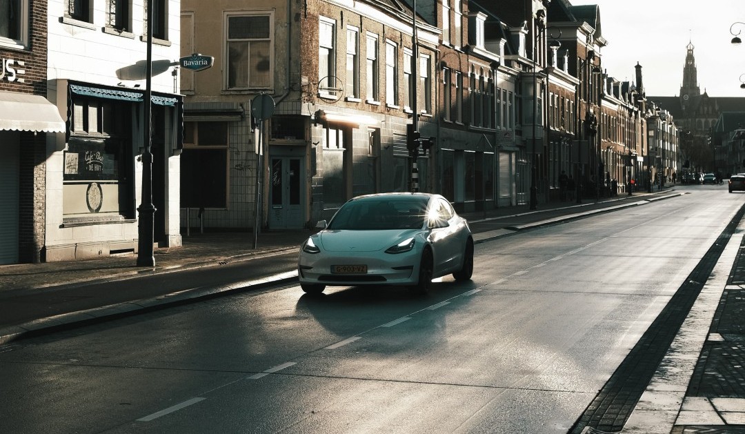
[[[603,69],[619,81],[635,81],[641,64],[647,95],[680,93],[686,45],[694,45],[698,84],[714,97],[745,97],[745,43],[733,45],[729,29],[745,22],[745,0],[570,0],[597,4],[608,45]],[[745,38],[745,24],[732,28]]]

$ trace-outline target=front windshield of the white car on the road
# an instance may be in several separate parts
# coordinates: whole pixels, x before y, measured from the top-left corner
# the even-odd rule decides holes
[[[365,198],[340,208],[329,230],[416,229],[424,226],[427,198]]]

